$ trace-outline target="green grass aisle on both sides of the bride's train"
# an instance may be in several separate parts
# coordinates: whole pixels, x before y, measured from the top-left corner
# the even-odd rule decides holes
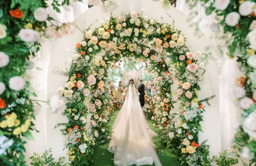
[[[115,111],[114,114],[109,118],[109,125],[112,125],[114,123],[118,113],[119,111]],[[148,124],[153,131],[157,130],[157,128],[152,125],[152,121],[149,119]],[[158,156],[162,162],[162,165],[177,166],[176,156],[173,153],[171,153],[169,149],[166,149],[166,147],[162,144],[162,138],[156,137],[153,138],[153,140],[155,142],[156,149],[158,150]],[[114,154],[108,152],[108,142],[106,142],[105,144],[102,144],[101,146],[98,146],[95,149],[94,156],[92,157],[94,163],[92,163],[91,166],[114,166],[113,158]]]

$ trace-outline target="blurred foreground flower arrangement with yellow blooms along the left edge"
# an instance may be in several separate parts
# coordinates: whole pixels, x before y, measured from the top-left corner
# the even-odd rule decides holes
[[[36,130],[33,109],[40,104],[29,99],[36,94],[25,80],[26,69],[33,68],[30,55],[40,50],[40,38],[61,37],[75,30],[74,23],[61,24],[49,17],[46,7],[43,0],[1,1],[0,139],[5,144],[0,146],[1,165],[26,165],[24,138],[32,140],[31,131]]]

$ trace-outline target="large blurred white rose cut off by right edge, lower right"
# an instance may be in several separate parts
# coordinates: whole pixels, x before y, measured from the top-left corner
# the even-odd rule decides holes
[[[244,131],[252,138],[256,138],[256,110],[254,110],[243,123]]]

